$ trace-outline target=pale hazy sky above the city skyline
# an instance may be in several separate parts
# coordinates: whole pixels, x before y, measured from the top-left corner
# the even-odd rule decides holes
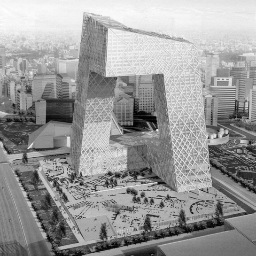
[[[83,12],[178,36],[193,30],[256,32],[256,0],[0,0],[0,31],[81,31]]]

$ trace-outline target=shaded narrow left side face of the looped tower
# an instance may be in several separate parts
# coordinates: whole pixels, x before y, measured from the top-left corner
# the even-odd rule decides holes
[[[106,44],[107,28],[96,22],[89,14],[84,13],[78,65],[77,97],[70,145],[70,157],[73,168],[77,173],[80,171],[81,157],[83,158],[82,145],[85,144],[87,137],[84,132],[86,126],[85,115],[88,115],[88,107],[92,108],[92,99],[87,99],[89,76],[91,72],[96,72],[101,76],[105,75]],[[92,75],[91,78],[95,78],[95,76]],[[90,92],[92,93],[91,89]],[[95,111],[94,114],[98,115],[99,113]]]

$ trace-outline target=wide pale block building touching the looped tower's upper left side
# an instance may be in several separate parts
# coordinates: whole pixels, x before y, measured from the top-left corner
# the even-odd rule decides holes
[[[67,73],[70,78],[78,78],[78,58],[73,59],[56,59],[55,74]]]

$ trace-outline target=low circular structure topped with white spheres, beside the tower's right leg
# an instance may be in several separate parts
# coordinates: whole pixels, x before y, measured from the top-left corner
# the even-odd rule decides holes
[[[208,145],[219,145],[228,142],[229,131],[218,126],[206,125]]]

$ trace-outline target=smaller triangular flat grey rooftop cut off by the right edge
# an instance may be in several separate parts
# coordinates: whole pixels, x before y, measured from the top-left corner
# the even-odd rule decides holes
[[[227,221],[256,244],[256,213],[230,218]]]

